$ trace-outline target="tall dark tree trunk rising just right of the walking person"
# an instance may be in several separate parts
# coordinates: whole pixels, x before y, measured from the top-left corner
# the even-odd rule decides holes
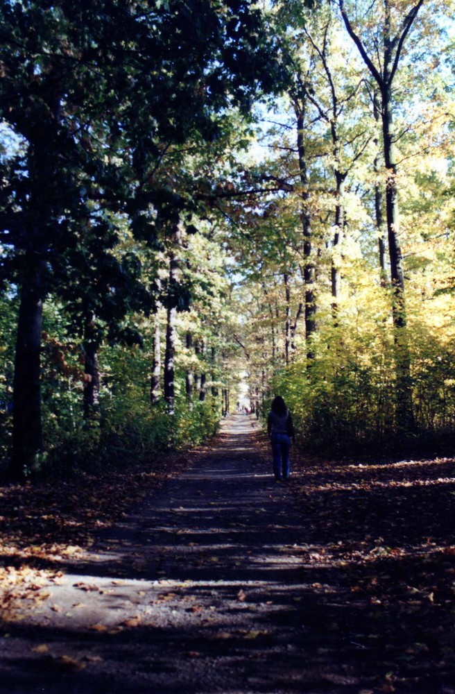
[[[305,339],[307,341],[307,359],[314,359],[314,350],[311,348],[311,338],[316,332],[316,296],[315,282],[316,271],[313,262],[312,243],[313,232],[311,230],[311,212],[309,209],[309,175],[307,164],[307,152],[304,145],[304,112],[299,105],[295,105],[297,117],[297,149],[300,171],[300,183],[302,184],[302,232],[303,232],[303,279],[305,286]]]

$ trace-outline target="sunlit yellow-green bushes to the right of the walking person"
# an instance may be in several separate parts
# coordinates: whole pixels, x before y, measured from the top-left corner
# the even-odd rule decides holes
[[[413,439],[418,441],[455,430],[455,344],[447,333],[430,332],[422,319],[411,322]],[[304,446],[325,453],[380,446],[385,453],[404,443],[395,438],[396,348],[387,323],[364,321],[356,330],[345,316],[337,328],[320,332],[314,360],[296,360],[275,375],[273,393],[285,398]]]

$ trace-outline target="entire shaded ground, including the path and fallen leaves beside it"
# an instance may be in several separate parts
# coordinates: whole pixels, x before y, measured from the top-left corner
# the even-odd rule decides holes
[[[454,459],[275,484],[252,425],[167,480],[0,489],[6,691],[455,693]]]

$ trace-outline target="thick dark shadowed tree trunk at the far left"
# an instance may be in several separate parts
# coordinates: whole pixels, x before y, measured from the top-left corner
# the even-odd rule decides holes
[[[42,451],[40,353],[45,263],[28,251],[22,280],[13,381],[12,460],[8,478],[23,482]]]

